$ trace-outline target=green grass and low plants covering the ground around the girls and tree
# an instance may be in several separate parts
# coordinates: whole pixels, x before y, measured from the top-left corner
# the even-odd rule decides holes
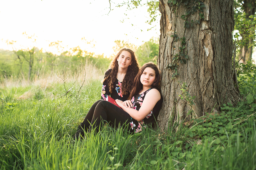
[[[78,77],[68,95],[61,76],[30,83],[5,79],[0,86],[0,168],[255,169],[254,68],[252,63],[237,64],[241,98],[236,106],[221,106],[220,113],[205,113],[181,124],[172,118],[166,132],[156,128],[127,134],[125,129],[105,126],[74,144],[71,136],[100,99],[102,71],[85,65],[90,71],[78,97],[84,77],[78,73],[65,72],[70,77],[66,88]]]

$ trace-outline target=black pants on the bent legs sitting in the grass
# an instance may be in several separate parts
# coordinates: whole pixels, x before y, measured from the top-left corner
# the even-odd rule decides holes
[[[118,127],[119,124],[124,127],[128,125],[129,130],[131,130],[131,121],[134,122],[134,119],[123,109],[108,101],[98,100],[92,105],[84,121],[78,126],[73,139],[75,140],[79,135],[84,136],[84,132],[89,132],[93,128],[96,128],[96,132],[98,132],[100,124],[105,122],[109,123],[112,127]]]

